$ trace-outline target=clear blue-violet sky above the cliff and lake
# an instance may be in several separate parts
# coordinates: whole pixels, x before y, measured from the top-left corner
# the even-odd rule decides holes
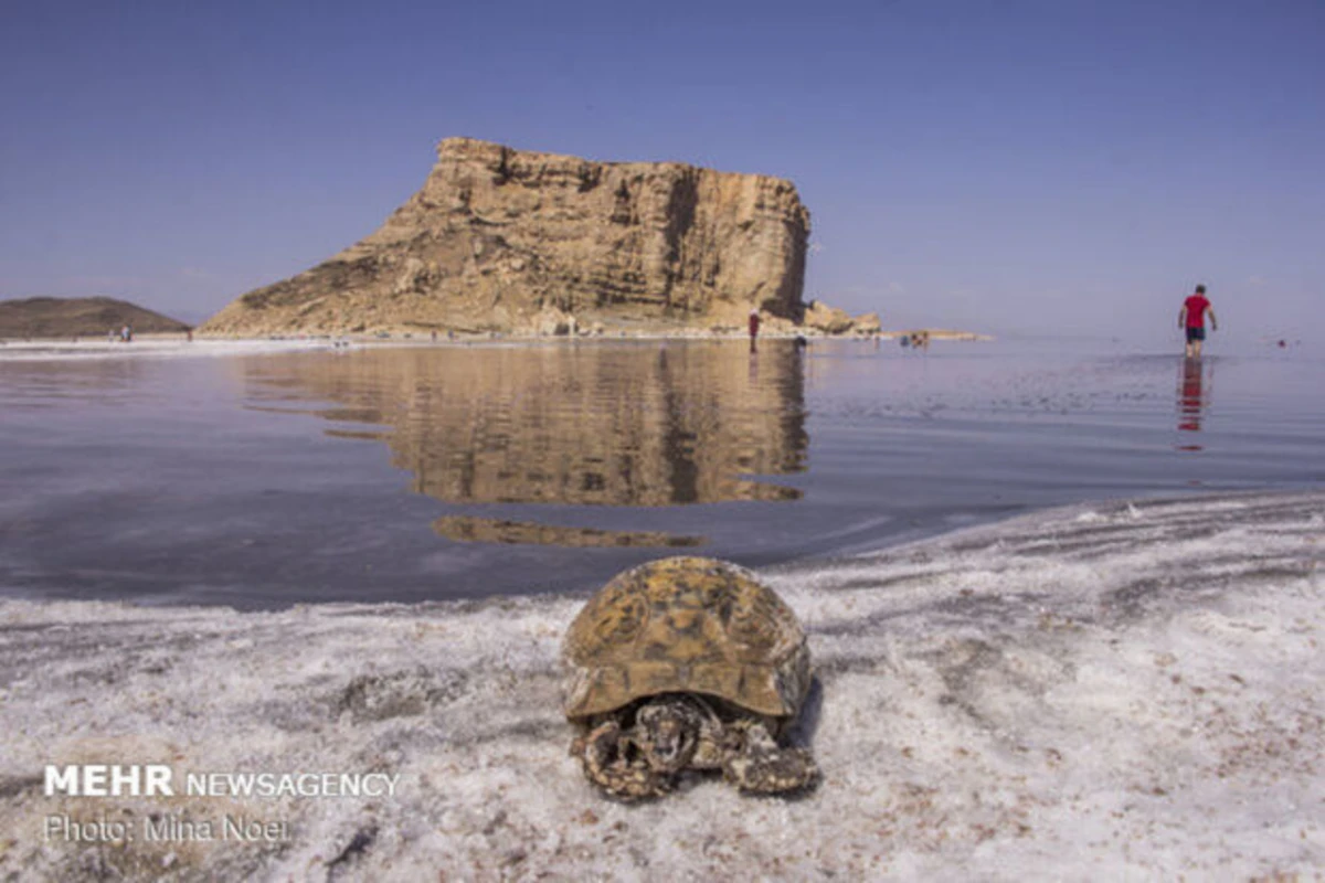
[[[1325,331],[1325,4],[11,4],[0,298],[184,319],[375,229],[468,135],[788,177],[885,327]]]

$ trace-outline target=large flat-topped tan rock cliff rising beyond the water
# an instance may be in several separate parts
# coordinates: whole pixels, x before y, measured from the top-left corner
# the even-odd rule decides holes
[[[331,259],[250,291],[212,334],[527,331],[799,320],[795,187],[681,163],[595,163],[452,138],[415,196]]]

